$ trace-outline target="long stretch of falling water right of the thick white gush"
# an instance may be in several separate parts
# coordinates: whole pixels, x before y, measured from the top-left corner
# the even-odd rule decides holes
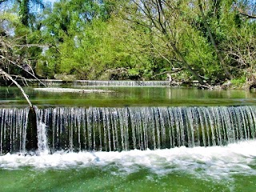
[[[52,149],[145,150],[226,145],[255,136],[254,106],[57,108]],[[62,111],[62,112],[61,112]],[[46,112],[43,112],[46,113]],[[241,118],[246,118],[241,120]],[[249,126],[250,125],[250,126]],[[62,130],[62,132],[60,132]],[[56,132],[56,131],[55,131]],[[54,131],[53,131],[54,133]],[[78,142],[76,144],[75,142]],[[59,147],[56,147],[59,146]]]

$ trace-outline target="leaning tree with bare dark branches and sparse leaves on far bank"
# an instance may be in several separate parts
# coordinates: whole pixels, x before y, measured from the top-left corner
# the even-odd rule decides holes
[[[182,22],[182,17],[179,17],[179,14],[182,14],[181,9],[180,2],[134,0],[126,4],[123,10],[128,10],[124,14],[128,21],[148,27],[153,36],[158,37],[163,42],[166,49],[173,53],[171,55],[176,60],[175,63],[178,67],[184,67],[198,82],[204,84],[201,75],[190,66],[182,53],[183,50],[180,46],[182,42],[179,41],[179,38],[180,34],[186,30],[186,26],[180,28],[178,25],[186,25],[186,22]],[[182,32],[180,32],[181,30]]]

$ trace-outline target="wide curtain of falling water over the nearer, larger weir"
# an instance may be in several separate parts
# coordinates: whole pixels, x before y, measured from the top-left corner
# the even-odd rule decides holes
[[[0,109],[0,154],[26,151],[28,113]],[[56,107],[37,116],[38,149],[52,153],[223,146],[256,136],[256,106]]]

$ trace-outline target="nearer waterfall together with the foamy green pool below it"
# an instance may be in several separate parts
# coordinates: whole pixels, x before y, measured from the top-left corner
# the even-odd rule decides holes
[[[256,106],[34,111],[37,150],[30,108],[0,110],[1,191],[255,189]]]

